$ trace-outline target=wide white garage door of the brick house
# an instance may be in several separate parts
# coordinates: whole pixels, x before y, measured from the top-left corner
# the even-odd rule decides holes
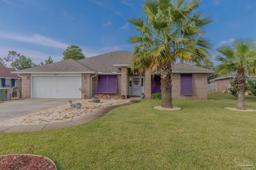
[[[80,76],[33,76],[33,98],[81,98]]]

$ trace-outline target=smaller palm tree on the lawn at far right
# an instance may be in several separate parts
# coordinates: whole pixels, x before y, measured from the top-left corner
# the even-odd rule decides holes
[[[216,60],[222,62],[216,67],[216,73],[226,76],[236,72],[234,78],[234,88],[238,94],[236,108],[245,110],[245,73],[256,74],[256,41],[252,38],[240,38],[234,40],[231,45],[223,45],[216,49],[220,53]]]

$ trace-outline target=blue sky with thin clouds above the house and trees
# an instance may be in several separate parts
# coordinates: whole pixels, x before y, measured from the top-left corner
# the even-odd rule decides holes
[[[0,58],[17,51],[35,64],[49,56],[57,62],[70,45],[86,57],[132,51],[127,38],[138,31],[126,20],[143,18],[142,5],[142,0],[0,0]],[[256,39],[256,0],[204,0],[198,10],[214,18],[205,27],[214,49],[240,37]],[[213,57],[217,54],[214,50]]]

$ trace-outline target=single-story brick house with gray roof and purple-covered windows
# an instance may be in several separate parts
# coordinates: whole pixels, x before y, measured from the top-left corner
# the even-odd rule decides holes
[[[160,76],[132,73],[129,51],[114,51],[74,61],[72,59],[16,71],[22,74],[22,98],[81,98],[94,94],[145,98],[160,90]],[[178,63],[173,66],[173,99],[207,99],[207,73],[213,70]]]

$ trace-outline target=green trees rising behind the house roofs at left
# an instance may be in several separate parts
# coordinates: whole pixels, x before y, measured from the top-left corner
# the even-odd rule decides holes
[[[86,57],[82,53],[81,48],[79,48],[77,45],[71,45],[63,52],[62,60],[67,60],[67,59],[80,60],[85,58]],[[51,56],[49,56],[49,58],[46,59],[44,62],[42,61],[39,64],[35,64],[32,62],[30,58],[27,58],[24,55],[20,55],[20,53],[17,53],[16,51],[9,51],[7,57],[5,57],[4,59],[0,58],[0,65],[6,66],[5,62],[12,62],[11,63],[12,69],[23,70],[26,68],[42,66],[42,65],[53,63],[53,60]]]

